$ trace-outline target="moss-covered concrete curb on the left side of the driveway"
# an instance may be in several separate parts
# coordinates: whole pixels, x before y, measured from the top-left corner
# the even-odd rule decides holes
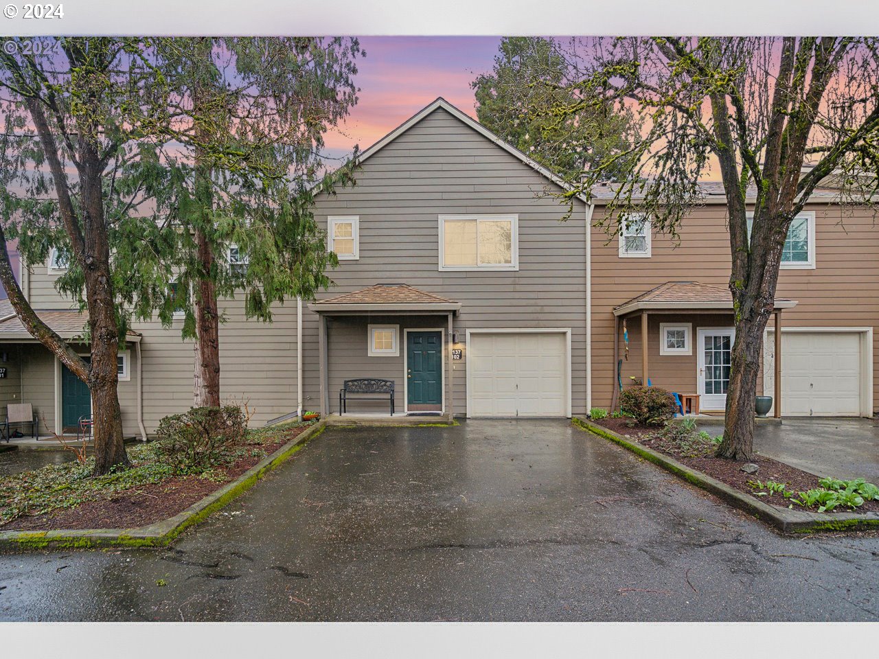
[[[172,518],[131,529],[55,529],[52,531],[0,531],[0,550],[68,549],[95,547],[166,547],[192,525],[251,489],[259,479],[316,438],[326,424],[318,422],[215,492],[193,503]]]

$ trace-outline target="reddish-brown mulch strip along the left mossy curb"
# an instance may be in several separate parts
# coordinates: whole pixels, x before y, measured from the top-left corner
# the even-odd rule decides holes
[[[258,447],[266,455],[272,455],[309,427],[292,428],[275,441],[266,442]],[[153,524],[185,511],[193,503],[234,481],[259,460],[263,458],[247,456],[237,460],[222,470],[224,472],[222,481],[212,481],[194,475],[174,476],[167,481],[148,483],[137,489],[117,492],[106,499],[86,501],[67,511],[16,518],[8,524],[0,525],[0,531],[126,529]]]

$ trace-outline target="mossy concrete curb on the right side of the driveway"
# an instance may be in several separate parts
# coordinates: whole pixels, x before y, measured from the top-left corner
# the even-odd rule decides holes
[[[779,508],[748,496],[744,492],[730,487],[724,482],[712,478],[708,474],[703,474],[691,467],[674,460],[664,453],[658,453],[647,446],[638,444],[614,431],[607,430],[601,426],[590,423],[587,419],[575,416],[571,419],[572,423],[581,430],[592,432],[593,435],[609,439],[615,444],[619,444],[627,448],[632,453],[636,453],[644,460],[650,460],[655,465],[663,467],[665,470],[672,472],[693,483],[695,486],[705,489],[711,494],[720,496],[727,503],[732,504],[736,508],[752,514],[754,517],[775,526],[783,532],[789,533],[809,533],[816,531],[851,531],[855,529],[875,529],[879,527],[879,513],[866,512],[834,512],[820,513],[808,511],[792,511],[787,508]]]

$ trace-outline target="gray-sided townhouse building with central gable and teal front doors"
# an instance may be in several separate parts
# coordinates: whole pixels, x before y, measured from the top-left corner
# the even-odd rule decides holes
[[[226,400],[249,400],[261,425],[299,408],[336,414],[345,380],[381,378],[394,380],[397,414],[585,412],[585,201],[559,221],[545,194],[562,189],[556,177],[441,98],[361,162],[357,185],[316,200],[340,259],[331,290],[276,308],[271,324],[247,321],[241,300],[222,301]],[[22,288],[74,340],[85,319],[54,289],[53,265],[23,268]],[[31,402],[41,432],[71,431],[91,415],[87,389],[0,304],[0,410]],[[129,435],[152,435],[191,405],[193,344],[180,322],[135,323],[127,337],[119,387]],[[350,401],[347,411],[389,405]]]

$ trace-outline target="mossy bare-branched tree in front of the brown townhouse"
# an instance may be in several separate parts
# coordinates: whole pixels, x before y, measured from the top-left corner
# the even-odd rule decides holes
[[[570,202],[628,171],[607,205],[609,232],[639,212],[677,235],[701,203],[700,179],[719,168],[736,325],[722,457],[752,457],[759,351],[795,215],[822,183],[838,189],[837,203],[875,204],[877,48],[845,37],[599,39],[583,51],[582,99],[548,111],[563,120],[583,104],[614,103],[643,120],[631,148],[593,161],[562,195]]]

